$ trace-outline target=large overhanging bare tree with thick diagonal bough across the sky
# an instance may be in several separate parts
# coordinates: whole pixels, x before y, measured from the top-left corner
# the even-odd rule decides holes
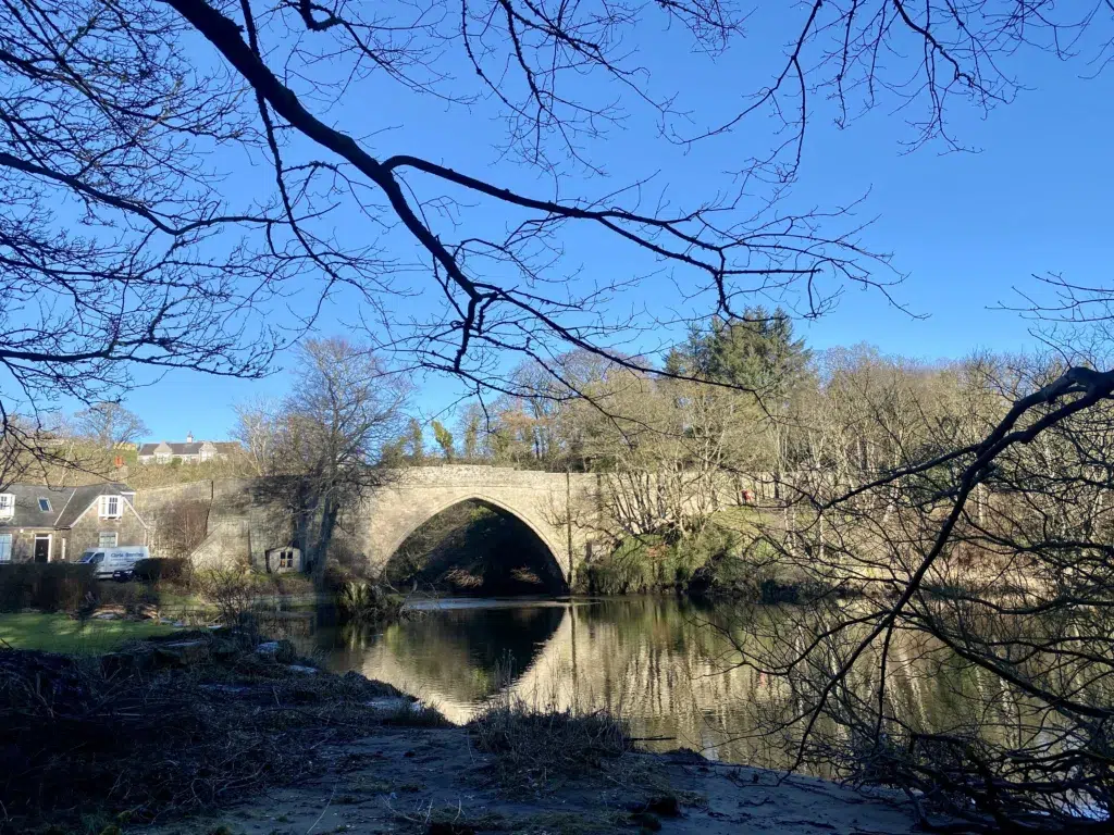
[[[59,395],[115,400],[139,367],[263,373],[341,293],[353,324],[408,363],[516,391],[507,352],[550,373],[569,348],[653,371],[617,345],[659,316],[608,306],[652,272],[672,274],[685,307],[729,321],[756,296],[819,315],[848,284],[886,292],[895,276],[853,206],[788,203],[820,102],[840,124],[921,107],[915,141],[956,146],[948,108],[1009,100],[1018,81],[1000,60],[1019,47],[1110,56],[1102,4],[805,3],[772,33],[786,48],[758,68],[765,80],[717,98],[716,112],[639,56],[647,28],[668,22],[655,51],[706,56],[715,77],[744,11],[12,0],[0,31],[0,416],[23,420],[9,441]],[[491,165],[466,170],[476,163],[455,163],[456,143],[395,143],[382,132],[393,116],[343,107],[384,95],[437,101],[447,125],[501,119]],[[758,136],[771,115],[774,132],[753,154],[730,148],[735,176],[725,185],[717,170],[703,199],[681,205],[656,159],[623,181],[602,176],[627,125],[680,157],[743,124]],[[266,183],[242,175],[258,160]],[[585,234],[632,267],[569,282]],[[417,317],[392,303],[413,289],[429,303]],[[294,314],[285,331],[261,315],[280,298]]]

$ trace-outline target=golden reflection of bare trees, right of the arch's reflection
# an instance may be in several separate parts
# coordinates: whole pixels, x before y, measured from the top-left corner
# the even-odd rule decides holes
[[[662,599],[577,608],[576,647],[568,654],[575,662],[565,674],[576,684],[567,700],[622,713],[641,735],[676,737],[664,747],[693,745],[724,759],[786,765],[800,727],[768,730],[772,719],[800,711],[801,692],[742,661],[775,644],[810,644],[815,631],[792,615],[788,607],[706,609]],[[896,637],[887,675],[895,685],[889,713],[926,730],[966,723],[965,711],[978,704],[970,698],[980,687],[975,671],[912,633]],[[856,677],[847,687],[864,697],[872,684]],[[831,721],[819,730],[830,738],[846,733]],[[819,759],[811,770],[834,774]]]

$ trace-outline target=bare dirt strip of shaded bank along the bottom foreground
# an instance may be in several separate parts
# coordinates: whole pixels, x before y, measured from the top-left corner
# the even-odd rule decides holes
[[[779,783],[779,775],[770,772],[714,765],[685,752],[626,754],[598,770],[532,792],[508,792],[494,785],[492,757],[476,750],[463,728],[377,728],[369,736],[322,746],[305,756],[312,774],[294,786],[261,793],[216,814],[134,832],[917,832],[911,809],[896,798],[864,797],[803,777]]]

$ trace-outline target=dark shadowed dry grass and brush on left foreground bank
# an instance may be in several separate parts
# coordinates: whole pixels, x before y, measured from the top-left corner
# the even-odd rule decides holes
[[[109,672],[99,659],[0,651],[0,833],[227,803],[313,773],[320,746],[384,724],[367,703],[402,696],[355,674],[293,671],[236,632],[183,638],[204,642],[208,660]],[[125,658],[173,651],[165,645]],[[431,724],[426,711],[414,721]]]

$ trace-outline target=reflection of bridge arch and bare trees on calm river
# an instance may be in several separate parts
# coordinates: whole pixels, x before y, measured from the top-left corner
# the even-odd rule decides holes
[[[385,677],[459,707],[490,696],[496,669],[510,659],[511,687],[557,707],[606,708],[632,721],[637,736],[674,737],[721,759],[785,765],[794,728],[763,736],[771,719],[800,705],[783,678],[740,664],[774,641],[804,646],[814,632],[788,607],[709,608],[672,598],[618,599],[563,607],[447,609],[394,625],[375,640],[356,636],[334,656],[339,668]],[[730,640],[727,638],[730,636]],[[888,675],[888,709],[926,729],[964,720],[988,680],[937,646],[897,638]],[[984,679],[986,677],[983,677]],[[852,678],[867,694],[871,681]],[[985,698],[985,694],[984,694]],[[1003,709],[1016,707],[1007,697]],[[821,730],[833,737],[834,725]],[[809,770],[834,776],[830,767]]]

